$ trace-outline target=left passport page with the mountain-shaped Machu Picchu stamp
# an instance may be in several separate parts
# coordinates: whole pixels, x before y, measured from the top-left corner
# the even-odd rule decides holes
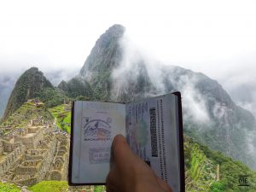
[[[125,104],[75,102],[73,183],[105,183],[113,137],[125,136]]]

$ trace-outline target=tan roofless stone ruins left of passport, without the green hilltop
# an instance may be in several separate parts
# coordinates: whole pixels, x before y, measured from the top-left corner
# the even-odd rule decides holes
[[[65,132],[54,131],[53,122],[33,119],[0,140],[0,177],[26,186],[67,180],[68,151]]]

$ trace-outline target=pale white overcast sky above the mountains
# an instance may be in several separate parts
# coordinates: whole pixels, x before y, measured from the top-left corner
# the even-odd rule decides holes
[[[96,39],[118,23],[165,63],[206,73],[230,92],[236,84],[256,90],[255,10],[256,2],[245,0],[2,1],[0,74],[36,66],[44,73],[64,70],[68,79]]]

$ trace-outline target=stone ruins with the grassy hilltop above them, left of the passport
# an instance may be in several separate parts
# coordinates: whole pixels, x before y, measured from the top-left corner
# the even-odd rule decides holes
[[[67,181],[69,135],[56,128],[44,103],[27,101],[0,126],[0,180],[31,186]]]

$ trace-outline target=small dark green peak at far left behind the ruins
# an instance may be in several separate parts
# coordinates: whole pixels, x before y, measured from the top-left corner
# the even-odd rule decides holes
[[[32,67],[17,80],[15,88],[9,96],[3,120],[32,98],[39,98],[47,106],[52,107],[61,104],[65,96],[44,77],[44,73],[40,72],[37,67]]]

